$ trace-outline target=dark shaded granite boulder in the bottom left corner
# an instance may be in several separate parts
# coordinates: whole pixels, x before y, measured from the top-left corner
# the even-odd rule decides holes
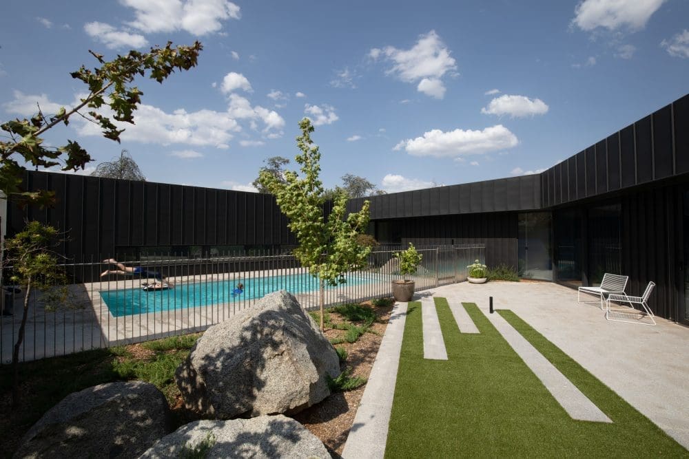
[[[143,381],[74,392],[46,412],[15,458],[132,458],[172,429],[165,396]]]

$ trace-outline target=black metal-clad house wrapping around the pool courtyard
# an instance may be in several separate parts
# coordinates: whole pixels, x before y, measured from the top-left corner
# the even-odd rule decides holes
[[[43,172],[26,181],[61,201],[10,206],[8,234],[27,218],[49,222],[70,231],[63,252],[75,259],[296,243],[270,195]],[[367,199],[380,242],[483,243],[489,266],[570,286],[622,273],[633,295],[655,281],[654,312],[689,323],[689,95],[540,174]]]

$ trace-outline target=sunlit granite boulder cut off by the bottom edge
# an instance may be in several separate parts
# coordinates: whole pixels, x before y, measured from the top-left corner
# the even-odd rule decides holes
[[[330,454],[300,423],[278,414],[251,419],[197,420],[161,438],[141,456],[182,457],[330,458]]]

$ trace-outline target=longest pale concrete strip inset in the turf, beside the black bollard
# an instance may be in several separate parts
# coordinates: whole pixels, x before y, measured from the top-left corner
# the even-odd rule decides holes
[[[571,418],[598,423],[613,422],[500,314],[491,314],[485,310],[482,312]]]

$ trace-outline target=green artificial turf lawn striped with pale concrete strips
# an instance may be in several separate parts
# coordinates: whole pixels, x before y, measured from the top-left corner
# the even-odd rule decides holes
[[[423,358],[421,303],[409,303],[388,457],[689,457],[603,383],[511,311],[513,326],[613,420],[573,420],[473,303],[480,334],[461,334],[435,298],[448,360]]]

